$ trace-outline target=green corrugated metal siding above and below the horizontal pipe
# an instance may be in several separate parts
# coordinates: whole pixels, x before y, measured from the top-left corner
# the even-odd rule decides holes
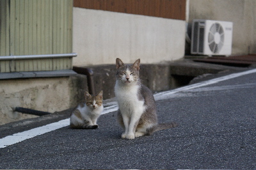
[[[0,0],[0,6],[0,55],[72,52],[72,0]],[[71,69],[70,64],[67,58],[1,60],[0,72]]]

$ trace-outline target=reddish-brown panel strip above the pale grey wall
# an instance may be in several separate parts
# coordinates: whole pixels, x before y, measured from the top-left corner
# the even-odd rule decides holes
[[[74,7],[186,20],[186,0],[74,0]]]

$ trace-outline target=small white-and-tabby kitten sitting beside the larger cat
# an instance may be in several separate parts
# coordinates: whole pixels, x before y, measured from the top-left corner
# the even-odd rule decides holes
[[[85,92],[85,103],[80,103],[72,111],[70,128],[72,129],[97,129],[97,119],[103,111],[101,90],[97,96],[91,96]]]

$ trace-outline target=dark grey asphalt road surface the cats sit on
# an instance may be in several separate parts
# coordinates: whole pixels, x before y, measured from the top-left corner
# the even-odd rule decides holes
[[[256,73],[180,90],[156,102],[159,122],[178,127],[121,139],[114,111],[99,129],[63,127],[0,148],[0,169],[255,169],[255,92]]]

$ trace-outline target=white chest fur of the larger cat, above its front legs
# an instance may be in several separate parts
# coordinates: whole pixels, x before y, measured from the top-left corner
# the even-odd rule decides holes
[[[139,88],[139,85],[136,84],[123,85],[116,81],[115,96],[122,115],[140,117],[145,110],[144,101],[140,101],[137,96]]]

